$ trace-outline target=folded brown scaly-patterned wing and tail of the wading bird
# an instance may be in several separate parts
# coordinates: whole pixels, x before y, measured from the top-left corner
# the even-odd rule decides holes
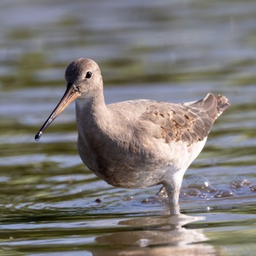
[[[166,143],[183,140],[191,144],[208,136],[212,124],[228,105],[225,97],[214,94],[188,104],[152,102],[140,120],[154,130],[155,138],[162,138]]]

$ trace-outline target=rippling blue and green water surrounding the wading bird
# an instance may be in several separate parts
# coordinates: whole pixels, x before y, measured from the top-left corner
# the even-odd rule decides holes
[[[255,254],[255,1],[0,7],[1,255]],[[190,219],[168,217],[160,187],[117,189],[87,170],[74,105],[34,141],[80,57],[99,63],[108,103],[208,91],[230,99],[186,173],[180,205]]]

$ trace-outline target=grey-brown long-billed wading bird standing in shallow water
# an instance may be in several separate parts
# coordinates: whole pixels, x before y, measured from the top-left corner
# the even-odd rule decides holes
[[[170,215],[178,216],[184,173],[202,151],[214,121],[230,106],[228,99],[208,93],[195,102],[134,99],[106,105],[101,71],[91,59],[72,61],[65,79],[64,96],[35,140],[75,100],[84,165],[114,187],[162,185]]]

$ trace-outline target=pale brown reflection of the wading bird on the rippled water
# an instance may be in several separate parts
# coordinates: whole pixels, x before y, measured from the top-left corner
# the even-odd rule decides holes
[[[118,223],[132,227],[131,231],[117,232],[96,238],[104,249],[93,249],[97,255],[217,255],[203,230],[182,227],[204,217],[143,217]],[[200,243],[201,242],[201,243]],[[199,244],[200,243],[200,244]],[[102,247],[101,246],[101,247]],[[108,251],[107,248],[110,248]]]

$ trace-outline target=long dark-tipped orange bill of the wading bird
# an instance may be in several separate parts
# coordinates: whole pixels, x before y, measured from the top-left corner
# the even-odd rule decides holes
[[[35,140],[39,140],[41,138],[42,132],[52,123],[52,121],[59,116],[59,114],[67,108],[67,106],[78,97],[78,91],[75,89],[75,86],[68,85],[67,90],[65,91],[61,101],[50,114],[48,119],[45,121],[45,124],[42,125],[41,129],[37,132],[37,135],[34,137]]]

